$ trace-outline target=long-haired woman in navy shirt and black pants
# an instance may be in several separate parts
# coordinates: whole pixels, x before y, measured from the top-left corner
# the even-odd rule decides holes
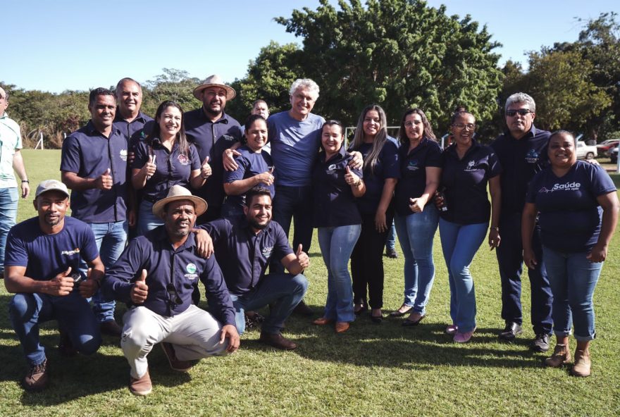
[[[361,214],[361,234],[351,255],[354,312],[359,315],[371,306],[371,320],[381,323],[383,313],[383,247],[394,218],[392,196],[400,176],[396,139],[387,136],[387,118],[373,104],[359,115],[349,151],[364,156],[366,193],[357,199]]]

